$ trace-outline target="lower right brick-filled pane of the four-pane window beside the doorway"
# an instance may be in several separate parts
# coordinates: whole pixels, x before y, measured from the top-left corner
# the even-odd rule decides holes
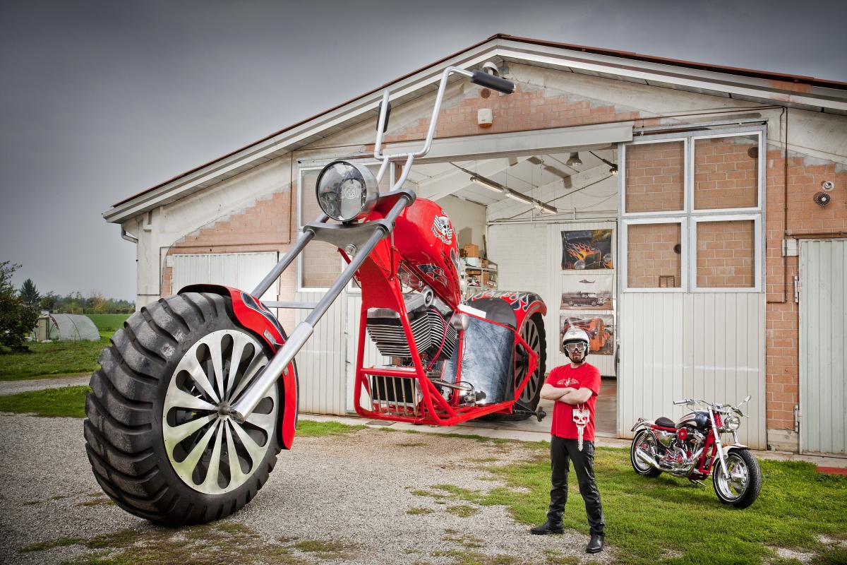
[[[697,223],[697,286],[750,288],[756,285],[754,225],[751,219]]]

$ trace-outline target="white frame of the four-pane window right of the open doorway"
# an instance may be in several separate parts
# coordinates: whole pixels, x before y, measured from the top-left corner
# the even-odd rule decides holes
[[[765,171],[767,168],[767,125],[759,125],[756,127],[741,127],[728,128],[724,130],[711,130],[708,133],[698,134],[689,132],[686,134],[669,133],[656,136],[650,136],[650,139],[640,139],[621,143],[620,154],[622,163],[622,171],[618,175],[618,190],[620,192],[620,224],[622,226],[620,235],[620,248],[624,253],[628,254],[627,232],[630,224],[671,224],[681,222],[681,240],[682,245],[681,261],[683,262],[682,270],[682,285],[678,288],[641,288],[629,287],[627,275],[628,257],[624,256],[625,260],[621,261],[621,291],[622,292],[761,292],[764,288],[764,263],[765,257],[763,250],[765,249],[765,198],[766,179]],[[757,147],[759,147],[759,169],[758,169],[758,187],[756,195],[757,206],[750,208],[709,208],[696,210],[694,208],[694,191],[695,191],[695,147],[698,140],[712,139],[718,137],[756,137]],[[669,210],[664,212],[626,212],[626,149],[628,145],[642,145],[648,143],[664,143],[667,141],[685,141],[684,145],[684,210]],[[699,222],[712,221],[732,221],[734,219],[753,220],[753,240],[754,240],[754,279],[755,284],[751,287],[743,288],[728,288],[697,286],[697,224]]]

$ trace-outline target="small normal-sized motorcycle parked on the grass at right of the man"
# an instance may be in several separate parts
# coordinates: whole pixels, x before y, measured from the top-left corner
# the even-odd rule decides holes
[[[750,447],[741,445],[741,406],[682,400],[674,404],[703,407],[685,414],[677,423],[670,418],[639,418],[629,460],[635,472],[645,477],[669,473],[700,483],[710,474],[717,498],[736,508],[749,507],[761,490],[761,469]],[[721,434],[732,433],[734,443],[723,446]],[[702,483],[700,483],[702,484]]]

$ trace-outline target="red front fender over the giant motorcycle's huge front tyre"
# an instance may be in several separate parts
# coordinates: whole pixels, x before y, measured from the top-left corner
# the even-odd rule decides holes
[[[245,291],[223,285],[188,285],[181,288],[181,292],[211,292],[220,296],[229,296],[232,300],[232,315],[235,316],[238,324],[268,344],[274,353],[279,351],[288,339],[274,314]],[[282,380],[285,396],[280,437],[285,449],[291,449],[297,423],[297,393],[300,390],[294,361],[291,361],[288,370],[283,373],[280,380]]]

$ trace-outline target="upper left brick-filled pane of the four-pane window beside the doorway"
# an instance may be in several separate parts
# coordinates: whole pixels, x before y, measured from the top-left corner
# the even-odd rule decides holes
[[[626,212],[683,209],[683,141],[631,145],[626,155]]]

